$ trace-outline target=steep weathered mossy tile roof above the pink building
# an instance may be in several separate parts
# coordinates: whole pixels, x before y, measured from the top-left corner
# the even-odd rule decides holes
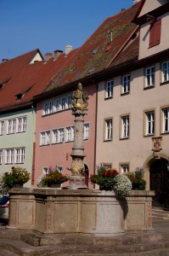
[[[141,2],[104,20],[103,24],[76,51],[73,60],[68,61],[65,68],[56,74],[47,90],[83,79],[109,67],[138,27],[132,23],[132,19],[137,14],[140,4]]]

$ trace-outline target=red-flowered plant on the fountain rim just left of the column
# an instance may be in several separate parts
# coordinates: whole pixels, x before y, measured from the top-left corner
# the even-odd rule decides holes
[[[59,170],[49,169],[48,174],[42,175],[37,181],[37,187],[59,187],[61,183],[69,180],[67,175],[62,174]]]

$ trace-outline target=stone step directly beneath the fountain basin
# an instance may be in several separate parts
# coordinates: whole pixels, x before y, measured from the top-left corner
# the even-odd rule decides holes
[[[90,246],[116,246],[116,245],[133,245],[144,241],[161,241],[162,235],[154,232],[127,234],[123,236],[99,237],[99,236],[82,236],[82,235],[39,235],[26,233],[20,235],[20,240],[30,244],[33,247],[56,246],[56,245],[90,245]]]

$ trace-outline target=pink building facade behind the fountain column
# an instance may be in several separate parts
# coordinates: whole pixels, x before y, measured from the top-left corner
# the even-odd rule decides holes
[[[88,111],[84,117],[84,158],[86,176],[95,168],[95,116],[96,116],[96,85],[89,84],[83,90],[88,94]],[[48,168],[57,166],[59,170],[70,176],[71,150],[74,137],[74,116],[72,115],[70,96],[72,91],[58,94],[37,102],[35,177],[48,172]],[[67,184],[64,183],[64,186]],[[91,184],[87,182],[90,187]]]

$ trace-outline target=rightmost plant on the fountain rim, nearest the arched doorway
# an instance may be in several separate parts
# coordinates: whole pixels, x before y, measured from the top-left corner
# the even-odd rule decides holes
[[[126,176],[131,180],[133,190],[144,190],[146,188],[144,169],[142,167],[137,167],[135,172],[127,172]]]

